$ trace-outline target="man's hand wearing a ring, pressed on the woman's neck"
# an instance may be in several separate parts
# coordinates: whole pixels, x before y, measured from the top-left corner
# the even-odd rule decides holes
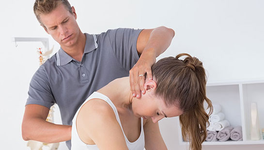
[[[153,49],[144,50],[144,55],[141,55],[139,61],[135,66],[129,71],[130,88],[133,97],[138,99],[141,97],[141,93],[145,94],[144,83],[145,83],[145,73],[147,73],[147,78],[152,80],[151,67],[156,62],[155,51]]]

